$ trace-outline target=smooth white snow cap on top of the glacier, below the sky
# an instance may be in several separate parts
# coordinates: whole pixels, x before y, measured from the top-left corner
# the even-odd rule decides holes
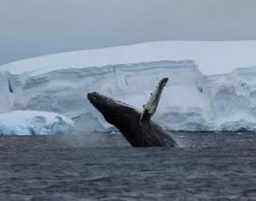
[[[161,41],[73,51],[29,58],[6,64],[12,74],[38,74],[53,69],[80,69],[159,60],[195,60],[206,75],[229,73],[256,65],[256,40],[245,41]]]

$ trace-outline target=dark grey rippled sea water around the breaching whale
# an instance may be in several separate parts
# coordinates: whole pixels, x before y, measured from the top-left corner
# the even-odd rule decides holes
[[[0,138],[0,200],[256,200],[256,133],[174,133],[180,148],[121,134]]]

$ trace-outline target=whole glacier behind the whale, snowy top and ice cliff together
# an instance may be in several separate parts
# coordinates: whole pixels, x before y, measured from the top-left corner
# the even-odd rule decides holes
[[[253,52],[256,41],[169,41],[20,60],[0,67],[0,112],[54,111],[79,132],[112,130],[88,92],[142,111],[158,81],[168,77],[153,117],[165,129],[256,130]]]

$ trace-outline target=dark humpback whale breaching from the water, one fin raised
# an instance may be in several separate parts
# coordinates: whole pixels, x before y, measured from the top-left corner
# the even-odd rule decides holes
[[[107,122],[122,132],[133,147],[178,146],[168,133],[151,120],[167,81],[165,78],[159,82],[156,90],[151,93],[150,100],[144,105],[143,112],[97,92],[88,93],[88,100]]]

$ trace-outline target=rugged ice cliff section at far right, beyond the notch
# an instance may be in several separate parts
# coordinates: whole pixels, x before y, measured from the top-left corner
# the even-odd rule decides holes
[[[256,130],[256,67],[207,77],[214,130]]]

